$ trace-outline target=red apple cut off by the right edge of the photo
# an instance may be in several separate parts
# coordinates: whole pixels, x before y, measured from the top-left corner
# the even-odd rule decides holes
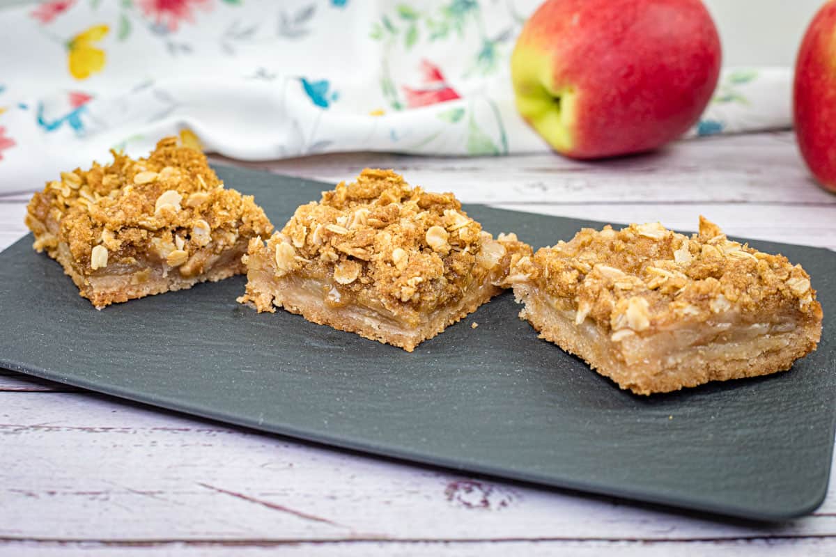
[[[798,49],[793,113],[804,160],[836,191],[836,2],[818,10]]]

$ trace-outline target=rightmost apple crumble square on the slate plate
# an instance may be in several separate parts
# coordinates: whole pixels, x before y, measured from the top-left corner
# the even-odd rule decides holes
[[[703,217],[691,238],[659,223],[580,230],[508,281],[541,337],[637,394],[787,370],[822,332],[801,266]]]

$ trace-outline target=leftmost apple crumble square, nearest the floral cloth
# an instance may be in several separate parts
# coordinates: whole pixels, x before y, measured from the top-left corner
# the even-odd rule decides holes
[[[97,309],[241,274],[273,231],[251,195],[227,190],[195,149],[162,139],[147,159],[62,172],[28,205],[34,249],[64,266]]]

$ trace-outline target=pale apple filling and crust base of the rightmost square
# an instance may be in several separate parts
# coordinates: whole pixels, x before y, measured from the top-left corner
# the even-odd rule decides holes
[[[647,335],[619,335],[531,286],[515,288],[525,304],[521,316],[550,342],[586,361],[602,375],[640,394],[696,387],[710,381],[754,377],[787,370],[815,347],[820,328],[794,316],[764,316],[741,322],[733,311],[711,322],[681,322]]]

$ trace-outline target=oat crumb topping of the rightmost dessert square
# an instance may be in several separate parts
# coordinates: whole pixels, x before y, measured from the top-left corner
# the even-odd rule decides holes
[[[660,223],[583,229],[571,241],[520,258],[508,280],[561,299],[577,324],[591,318],[614,341],[732,309],[744,319],[788,307],[811,318],[822,313],[801,266],[730,241],[702,216],[690,238]]]

